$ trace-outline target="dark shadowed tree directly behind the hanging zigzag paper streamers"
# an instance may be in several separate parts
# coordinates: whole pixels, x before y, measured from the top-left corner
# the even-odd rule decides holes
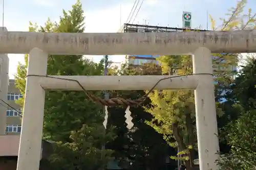
[[[161,74],[161,68],[156,70],[156,65],[127,65],[122,64],[121,69],[114,71],[114,75],[157,75]],[[111,96],[122,96],[124,99],[137,99],[144,95],[143,90],[109,91]],[[146,100],[144,106],[150,105]],[[152,115],[145,112],[143,107],[131,108],[134,127],[130,131],[126,128],[124,108],[109,108],[109,126],[115,126],[117,137],[109,142],[106,147],[115,152],[113,156],[119,163],[119,167],[125,169],[173,169],[175,161],[166,163],[166,157],[174,152],[162,139],[161,134],[147,126],[145,121],[150,121]]]

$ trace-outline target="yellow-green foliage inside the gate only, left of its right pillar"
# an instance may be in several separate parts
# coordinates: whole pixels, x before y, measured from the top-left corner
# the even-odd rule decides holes
[[[188,55],[161,56],[159,61],[162,74],[186,75],[192,72],[191,57]],[[150,99],[152,107],[147,107],[146,111],[154,118],[147,124],[162,134],[171,147],[179,147],[179,156],[171,158],[184,160],[189,168],[189,159],[195,157],[193,151],[196,148],[193,90],[154,90]]]

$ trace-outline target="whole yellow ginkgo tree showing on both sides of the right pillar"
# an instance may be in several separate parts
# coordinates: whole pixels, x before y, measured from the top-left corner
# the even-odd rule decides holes
[[[217,28],[215,20],[211,19],[212,30],[243,30],[252,28],[255,25],[255,15],[251,14],[251,9],[247,15],[243,14],[246,1],[242,0],[237,6],[231,8],[227,19],[222,19],[222,25]],[[247,18],[247,20],[245,20]],[[225,88],[229,88],[232,82],[239,54],[212,54],[214,74],[216,76],[216,105],[218,109],[219,101]],[[193,73],[191,56],[161,56],[158,59],[162,64],[162,74],[186,75]],[[146,111],[154,116],[151,122],[147,122],[172,147],[179,148],[173,159],[181,159],[187,169],[194,169],[194,159],[197,158],[197,136],[195,127],[195,102],[194,90],[154,90],[150,94],[152,107],[146,107]],[[221,109],[217,110],[221,116]]]

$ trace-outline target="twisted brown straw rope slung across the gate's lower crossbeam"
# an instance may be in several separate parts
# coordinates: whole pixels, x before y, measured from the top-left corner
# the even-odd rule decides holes
[[[179,76],[173,76],[173,77],[167,77],[167,78],[162,78],[157,81],[157,83],[141,98],[136,99],[136,100],[131,100],[131,99],[122,99],[122,98],[111,98],[111,99],[101,99],[98,98],[87,91],[79,81],[73,80],[73,79],[66,79],[66,78],[58,78],[58,77],[52,77],[52,76],[40,76],[40,75],[28,75],[27,77],[46,77],[46,78],[51,78],[51,79],[59,79],[59,80],[66,80],[66,81],[73,81],[76,82],[82,89],[82,91],[88,96],[90,100],[93,102],[100,103],[104,106],[132,106],[132,107],[138,107],[141,105],[146,98],[148,98],[148,95],[156,88],[156,86],[163,80],[166,79],[173,79],[173,78],[178,78],[178,77],[185,77],[185,76],[192,76],[192,75],[211,75],[214,76],[213,74],[208,74],[208,73],[201,73],[201,74],[187,74],[187,75],[179,75]]]

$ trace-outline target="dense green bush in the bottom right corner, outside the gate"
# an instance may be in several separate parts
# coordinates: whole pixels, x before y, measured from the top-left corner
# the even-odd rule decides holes
[[[222,169],[255,169],[256,110],[242,111],[239,118],[225,127],[223,134],[231,146],[230,153],[220,160]]]

